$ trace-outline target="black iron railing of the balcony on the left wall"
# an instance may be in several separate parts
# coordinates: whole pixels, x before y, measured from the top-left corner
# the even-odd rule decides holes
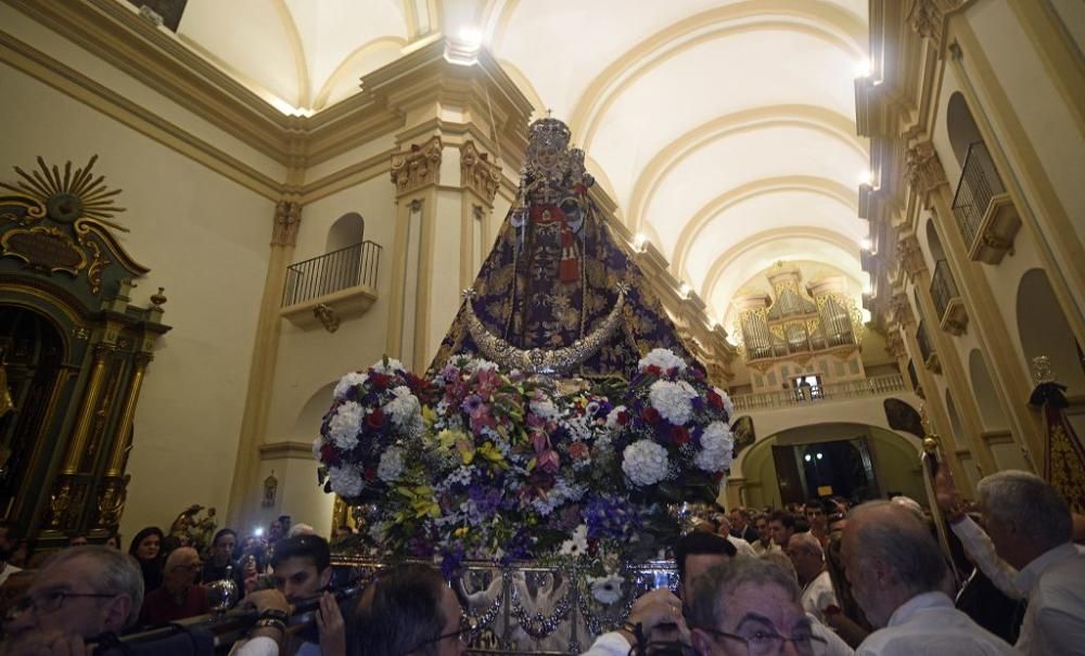
[[[366,241],[291,265],[286,268],[282,305],[305,303],[359,285],[375,288],[380,262],[381,246]]]

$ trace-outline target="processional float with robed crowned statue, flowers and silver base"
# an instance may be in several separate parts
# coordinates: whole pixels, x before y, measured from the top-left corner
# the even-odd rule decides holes
[[[472,651],[578,653],[676,584],[684,503],[711,504],[732,412],[588,195],[570,130],[529,128],[518,200],[430,371],[345,375],[314,452],[362,578],[439,563]]]

